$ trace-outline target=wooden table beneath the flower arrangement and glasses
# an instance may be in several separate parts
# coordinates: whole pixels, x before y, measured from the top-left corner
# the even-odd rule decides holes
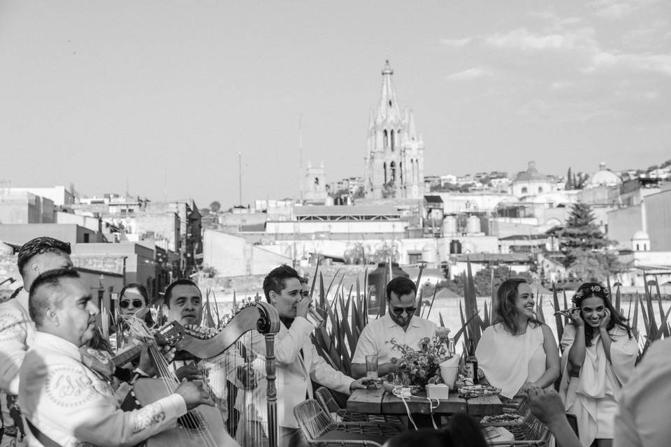
[[[430,414],[431,407],[426,400],[426,393],[406,399],[410,413]],[[435,405],[435,401],[434,401]],[[405,414],[403,401],[383,388],[374,390],[354,390],[347,400],[347,409],[357,413],[367,414]],[[458,393],[450,391],[447,400],[440,400],[434,414],[468,413],[471,416],[489,416],[503,413],[503,404],[498,396],[480,396],[472,399],[462,399]]]

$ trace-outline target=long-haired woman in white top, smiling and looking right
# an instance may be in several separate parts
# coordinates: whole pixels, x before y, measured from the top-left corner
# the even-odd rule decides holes
[[[493,325],[475,350],[487,381],[512,398],[526,385],[551,386],[559,376],[559,351],[549,326],[536,319],[531,286],[507,279],[499,286]]]

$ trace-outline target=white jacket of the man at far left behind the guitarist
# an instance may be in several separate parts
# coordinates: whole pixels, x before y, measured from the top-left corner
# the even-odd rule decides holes
[[[0,390],[19,393],[19,368],[35,336],[35,323],[28,313],[28,292],[0,304]]]

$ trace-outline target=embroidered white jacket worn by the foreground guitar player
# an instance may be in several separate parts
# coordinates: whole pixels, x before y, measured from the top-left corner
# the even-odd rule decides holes
[[[187,412],[178,394],[143,409],[123,411],[108,382],[80,359],[74,344],[36,332],[20,369],[19,403],[24,416],[63,447],[134,446],[174,427]],[[41,447],[28,436],[29,446]]]

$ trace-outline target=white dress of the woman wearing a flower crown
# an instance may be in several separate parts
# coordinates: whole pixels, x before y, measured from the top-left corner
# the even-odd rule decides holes
[[[561,338],[563,356],[561,358],[561,385],[559,393],[563,397],[567,413],[575,414],[578,423],[580,444],[589,447],[594,439],[613,438],[613,420],[619,400],[619,390],[631,376],[638,344],[630,339],[626,330],[615,326],[609,331],[612,339],[609,362],[601,342],[601,336],[585,349],[585,360],[579,377],[568,374],[568,352],[575,340],[575,325],[568,324]]]

